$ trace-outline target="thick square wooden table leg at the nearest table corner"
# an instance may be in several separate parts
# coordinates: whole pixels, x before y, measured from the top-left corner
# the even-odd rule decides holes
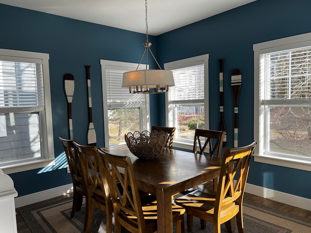
[[[173,232],[172,195],[169,192],[156,190],[157,232]]]

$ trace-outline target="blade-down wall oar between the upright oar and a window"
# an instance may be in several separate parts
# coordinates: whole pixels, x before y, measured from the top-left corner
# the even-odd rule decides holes
[[[92,119],[92,95],[91,95],[91,78],[89,74],[90,66],[86,67],[87,79],[87,96],[88,96],[88,130],[87,130],[87,145],[96,146],[96,132]]]

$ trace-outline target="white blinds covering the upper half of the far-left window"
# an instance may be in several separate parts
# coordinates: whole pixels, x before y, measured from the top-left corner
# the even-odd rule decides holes
[[[0,107],[44,108],[42,62],[39,59],[12,60],[14,58],[0,57]]]

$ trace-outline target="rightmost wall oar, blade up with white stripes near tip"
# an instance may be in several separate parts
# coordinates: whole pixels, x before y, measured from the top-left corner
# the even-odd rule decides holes
[[[240,69],[234,69],[231,73],[231,88],[234,97],[234,147],[238,147],[238,113],[239,113],[239,93],[242,84],[242,74]]]

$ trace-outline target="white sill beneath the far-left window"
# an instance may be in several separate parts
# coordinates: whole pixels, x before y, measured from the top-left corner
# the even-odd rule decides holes
[[[46,166],[55,165],[55,159],[52,160],[40,160],[40,161],[32,161],[32,162],[22,162],[18,164],[14,164],[14,166],[1,166],[2,171],[5,174],[12,174],[21,171],[28,171],[36,168],[42,168]]]

